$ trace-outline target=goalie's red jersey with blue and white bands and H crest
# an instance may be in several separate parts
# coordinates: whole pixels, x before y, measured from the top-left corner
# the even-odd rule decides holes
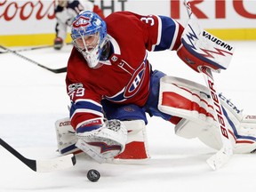
[[[177,50],[183,27],[169,17],[114,12],[106,19],[113,52],[100,68],[92,69],[74,48],[68,60],[67,90],[75,129],[102,124],[100,100],[135,104],[148,100],[151,68],[148,51]]]

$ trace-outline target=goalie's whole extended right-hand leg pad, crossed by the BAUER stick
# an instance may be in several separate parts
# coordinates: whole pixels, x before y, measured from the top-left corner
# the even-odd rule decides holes
[[[243,115],[222,94],[220,103],[234,153],[251,153],[256,148],[256,116]],[[164,76],[160,81],[158,108],[166,114],[182,118],[175,125],[177,135],[187,139],[198,138],[218,150],[222,147],[218,124],[213,117],[210,91],[204,85]]]

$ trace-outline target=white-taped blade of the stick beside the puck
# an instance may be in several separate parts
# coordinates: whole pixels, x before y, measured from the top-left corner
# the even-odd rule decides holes
[[[67,156],[60,156],[49,160],[36,160],[35,172],[53,172],[67,169],[76,164],[76,156],[69,154]]]

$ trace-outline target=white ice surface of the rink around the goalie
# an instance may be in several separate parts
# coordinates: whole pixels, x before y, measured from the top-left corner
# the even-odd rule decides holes
[[[228,70],[213,74],[220,92],[256,115],[256,42],[230,42],[236,47]],[[12,48],[13,49],[13,48]],[[60,52],[52,48],[20,52],[49,68],[67,63],[70,46]],[[0,51],[3,51],[0,49]],[[204,77],[183,64],[175,52],[149,53],[153,68],[204,84]],[[0,53],[0,137],[24,156],[47,159],[56,152],[54,123],[68,116],[65,73],[53,74],[12,53]],[[235,155],[218,171],[206,164],[216,151],[198,140],[186,140],[173,133],[173,125],[148,117],[148,145],[151,159],[143,164],[98,164],[78,156],[73,168],[38,173],[0,146],[0,192],[5,191],[254,191],[255,155]],[[87,180],[96,169],[98,182]]]

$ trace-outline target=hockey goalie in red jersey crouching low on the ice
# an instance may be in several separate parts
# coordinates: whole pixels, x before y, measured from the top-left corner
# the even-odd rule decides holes
[[[146,160],[146,113],[175,124],[181,137],[218,150],[226,138],[234,153],[251,153],[255,116],[243,115],[213,83],[166,76],[148,61],[148,52],[170,50],[196,72],[220,72],[234,48],[207,34],[194,20],[183,28],[160,15],[114,12],[102,20],[80,12],[66,76],[70,116],[56,122],[60,154],[84,152],[100,163]]]

